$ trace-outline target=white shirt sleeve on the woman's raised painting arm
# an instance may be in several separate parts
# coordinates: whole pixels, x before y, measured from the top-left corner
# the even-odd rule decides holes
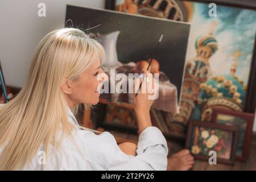
[[[147,127],[139,135],[137,156],[126,155],[113,143],[108,170],[166,170],[168,147],[166,139],[157,127]]]

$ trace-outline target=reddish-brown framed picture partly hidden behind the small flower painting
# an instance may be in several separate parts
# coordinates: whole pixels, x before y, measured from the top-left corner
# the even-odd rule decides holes
[[[249,156],[254,114],[214,109],[211,122],[239,128],[236,160],[245,162]]]

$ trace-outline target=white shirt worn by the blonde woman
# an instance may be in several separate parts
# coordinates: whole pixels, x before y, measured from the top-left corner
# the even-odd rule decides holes
[[[78,125],[68,109],[69,121]],[[157,127],[147,127],[139,135],[137,156],[126,155],[118,147],[112,134],[100,135],[89,130],[74,132],[73,139],[64,139],[58,150],[53,150],[45,161],[46,170],[166,170],[168,147]],[[79,150],[79,149],[80,150]],[[0,147],[0,155],[3,151]],[[80,152],[81,151],[81,152]],[[42,151],[22,170],[41,170]]]

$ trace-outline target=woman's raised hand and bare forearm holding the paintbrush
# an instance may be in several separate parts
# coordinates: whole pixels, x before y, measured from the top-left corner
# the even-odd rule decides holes
[[[154,77],[150,72],[143,70],[143,73],[145,73],[145,77],[143,79],[139,78],[135,81],[135,93],[133,93],[134,110],[139,129],[138,134],[141,134],[142,131],[146,129],[146,127],[152,126],[150,118],[150,107],[152,106],[154,100],[150,99],[148,89],[154,89],[155,82]],[[141,89],[139,90],[137,96],[135,96],[141,82]]]

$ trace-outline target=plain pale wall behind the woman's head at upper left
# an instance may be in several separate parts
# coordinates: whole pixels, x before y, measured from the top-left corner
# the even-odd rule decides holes
[[[38,4],[46,4],[46,17]],[[1,0],[0,60],[7,85],[22,87],[36,44],[65,25],[66,5],[104,8],[104,0]]]

